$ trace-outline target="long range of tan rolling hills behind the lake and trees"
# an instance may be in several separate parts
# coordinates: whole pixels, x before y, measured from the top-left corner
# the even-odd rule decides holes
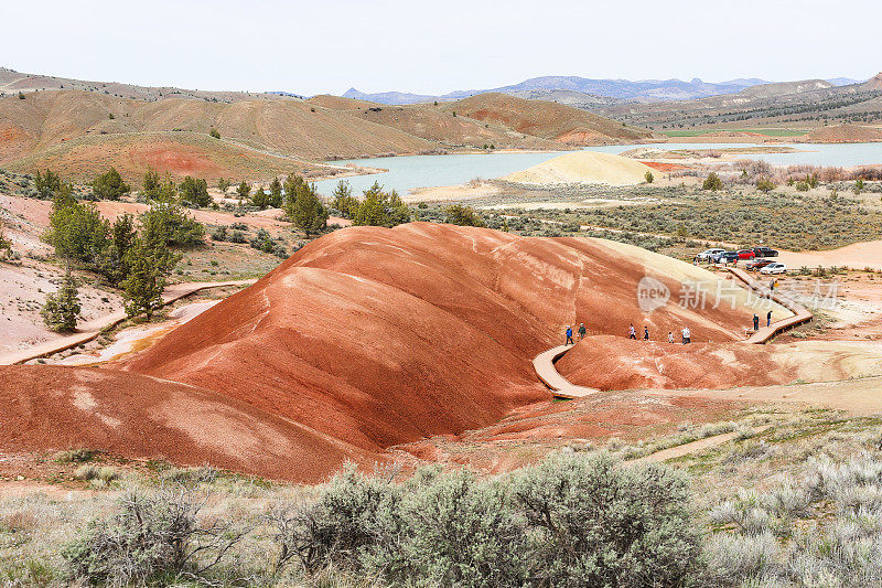
[[[110,165],[129,180],[148,165],[175,177],[265,180],[333,172],[316,163],[322,160],[485,146],[560,149],[652,136],[568,106],[518,98],[503,104],[495,96],[386,107],[333,96],[142,99],[66,87],[13,94],[0,98],[0,167],[25,173],[53,168],[80,181]],[[208,136],[212,129],[219,139]]]

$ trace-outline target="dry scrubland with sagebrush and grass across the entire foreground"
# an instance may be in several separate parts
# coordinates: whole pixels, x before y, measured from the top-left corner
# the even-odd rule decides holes
[[[58,453],[92,494],[0,499],[10,582],[874,586],[880,420],[752,411],[649,443],[571,443],[487,477],[347,468],[319,487]],[[669,466],[626,463],[734,431]]]

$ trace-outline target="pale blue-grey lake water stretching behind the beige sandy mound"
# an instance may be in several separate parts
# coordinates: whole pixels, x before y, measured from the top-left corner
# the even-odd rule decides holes
[[[862,165],[882,163],[882,142],[880,143],[777,143],[783,147],[800,149],[796,153],[753,153],[739,154],[739,158],[762,159],[774,165],[813,164],[813,165]],[[763,147],[745,143],[653,143],[653,145],[612,145],[590,147],[590,151],[619,154],[637,147],[657,149],[727,149],[733,147]],[[768,146],[766,146],[768,147]],[[469,153],[452,156],[404,156],[390,158],[353,159],[333,163],[355,163],[372,168],[385,168],[389,171],[372,175],[347,178],[356,195],[379,182],[387,189],[395,189],[406,194],[415,188],[432,185],[463,184],[474,178],[499,178],[516,171],[553,159],[561,152],[541,153]],[[340,180],[316,182],[319,192],[331,195]]]

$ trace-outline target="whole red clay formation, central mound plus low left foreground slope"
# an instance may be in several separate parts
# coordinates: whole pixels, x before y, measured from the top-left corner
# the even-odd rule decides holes
[[[720,342],[751,316],[676,303],[646,316],[645,275],[675,301],[686,280],[717,279],[601,239],[340,229],[121,364],[0,367],[0,451],[89,447],[312,482],[347,459],[369,466],[390,446],[549,406],[531,360],[567,323],[615,342],[632,321],[688,323]]]

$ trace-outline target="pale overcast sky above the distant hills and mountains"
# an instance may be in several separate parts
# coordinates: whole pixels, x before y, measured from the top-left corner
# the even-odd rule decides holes
[[[440,94],[540,75],[864,79],[880,0],[0,0],[0,65],[197,89]]]

